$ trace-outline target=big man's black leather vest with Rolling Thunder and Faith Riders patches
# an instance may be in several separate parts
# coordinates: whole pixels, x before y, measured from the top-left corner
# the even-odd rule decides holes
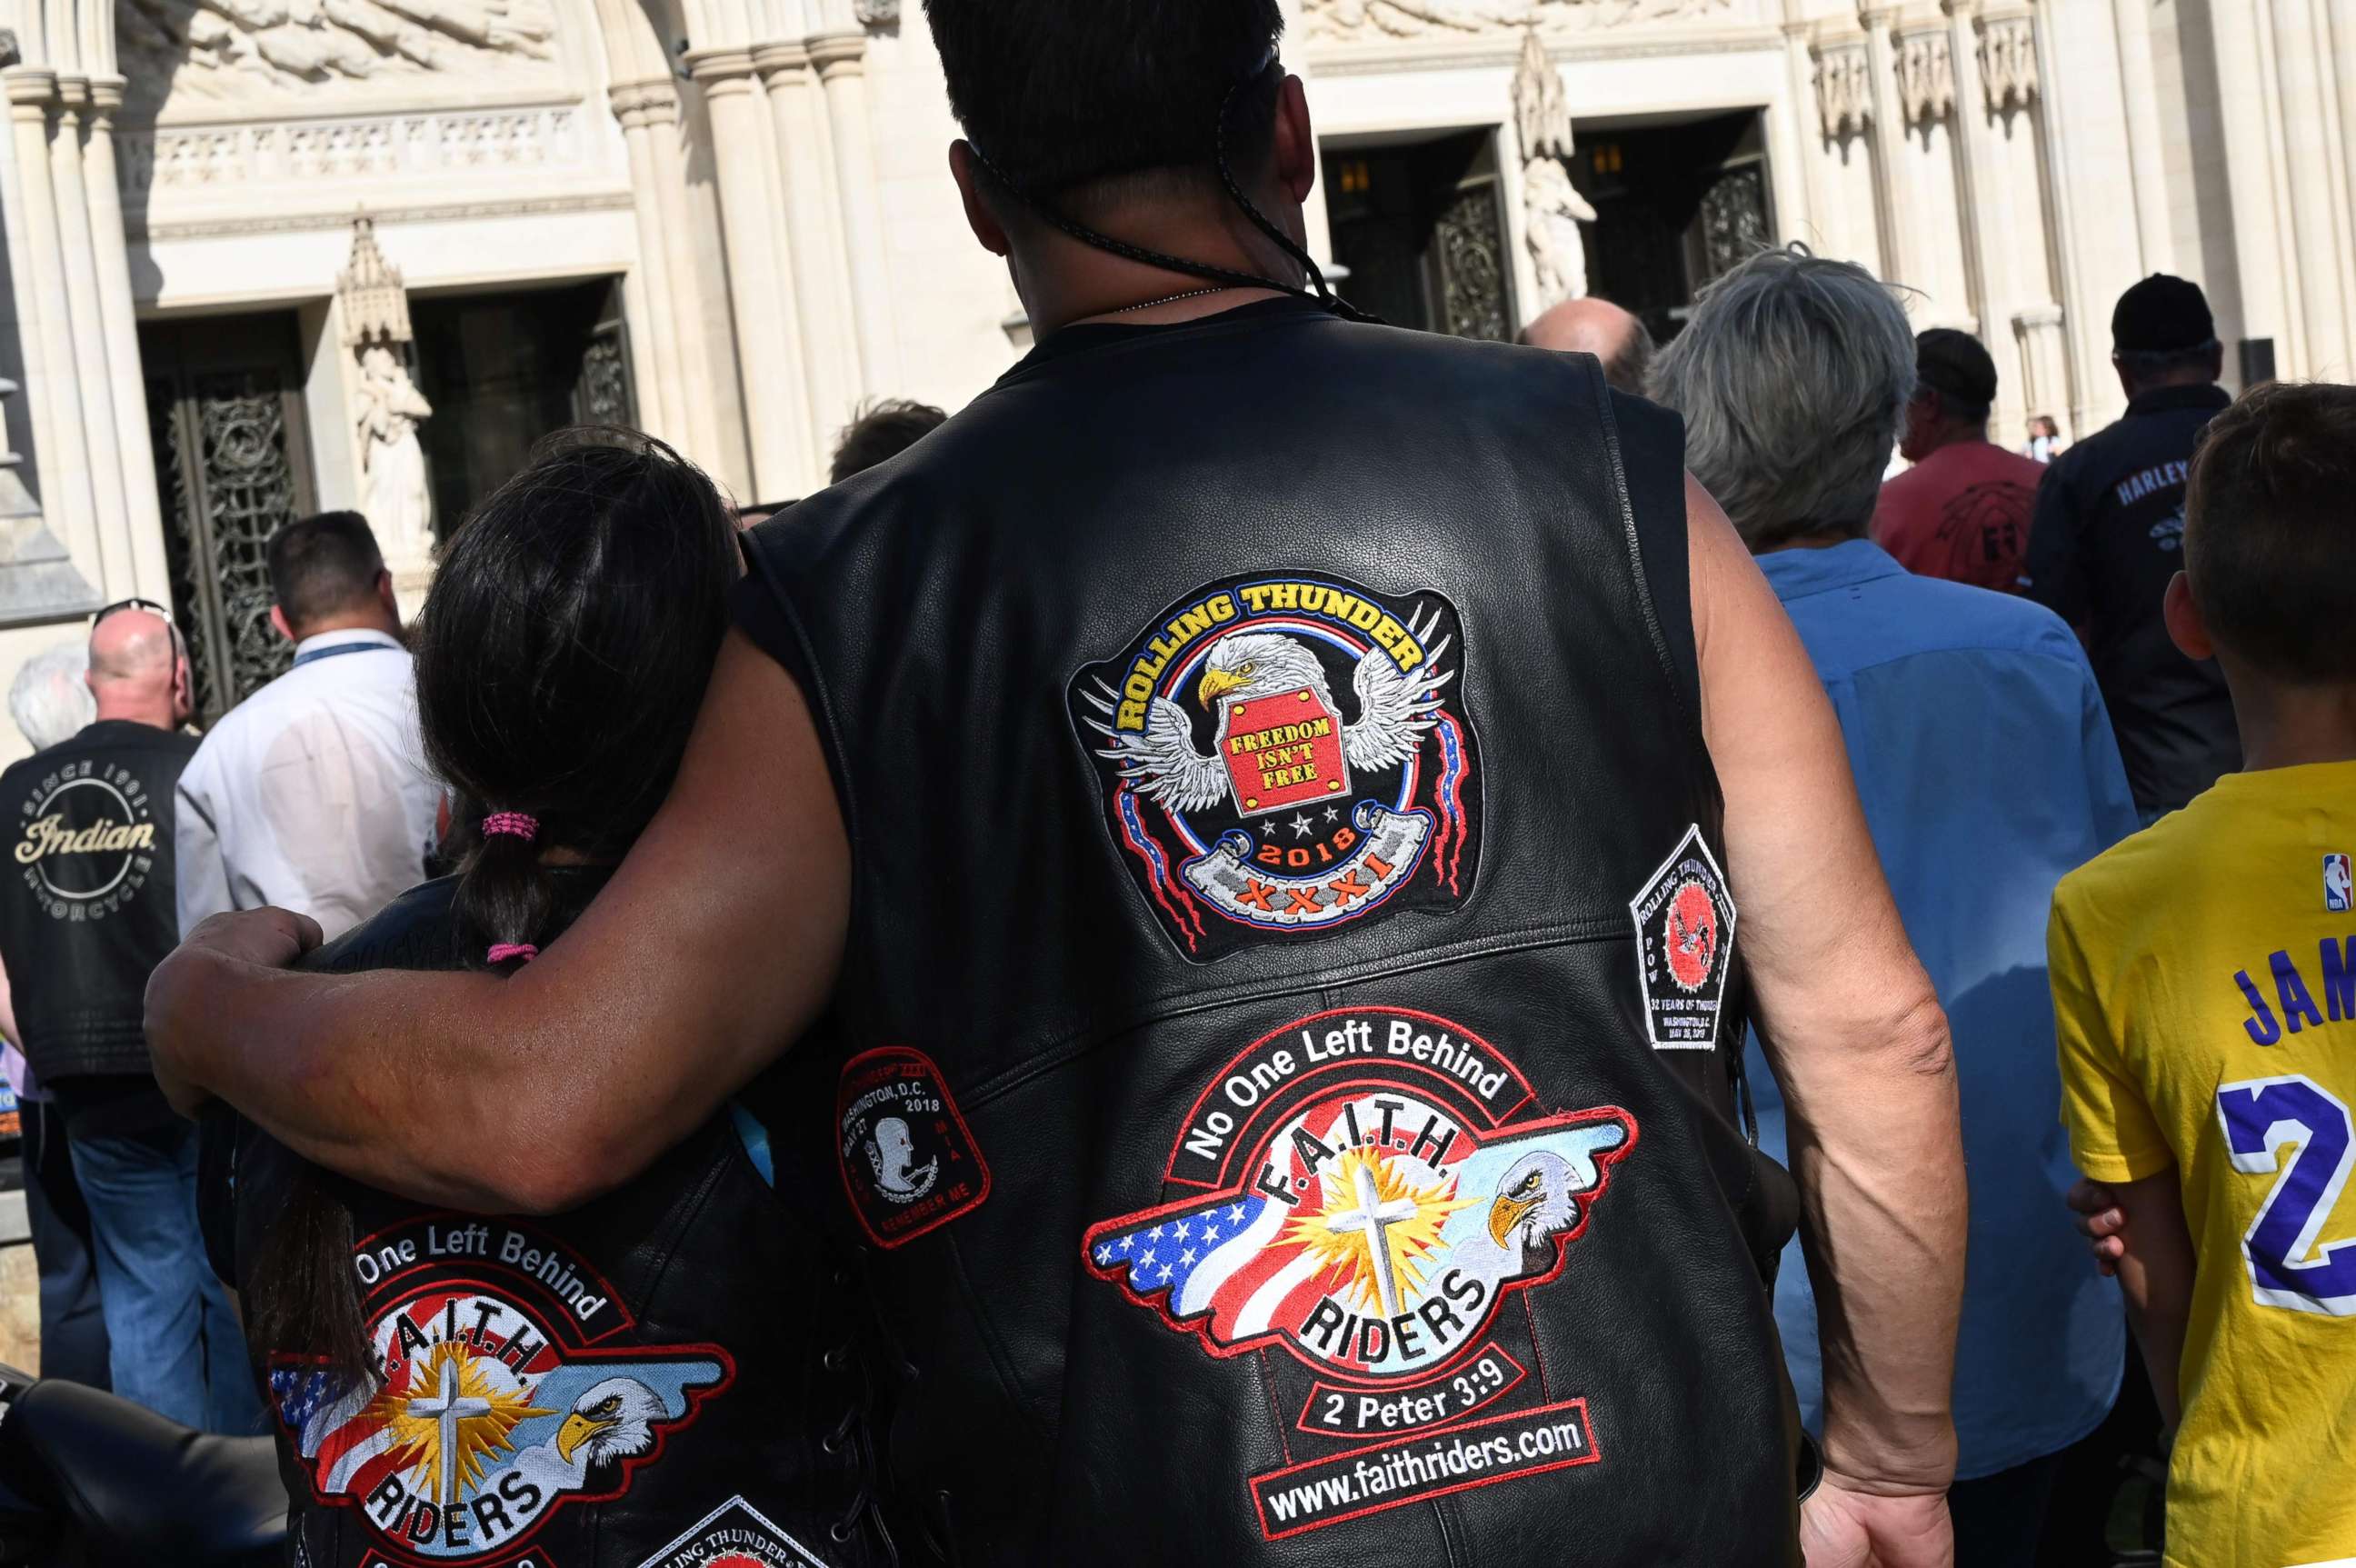
[[[1272,304],[756,530],[855,855],[794,1142],[957,1561],[1798,1563],[1680,452]]]

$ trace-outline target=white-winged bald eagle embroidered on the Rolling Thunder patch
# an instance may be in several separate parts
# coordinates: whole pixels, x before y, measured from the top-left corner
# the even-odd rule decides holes
[[[1407,631],[1421,645],[1437,624],[1440,612],[1430,610],[1421,622],[1409,619]],[[1409,673],[1402,673],[1381,650],[1369,650],[1357,662],[1357,673],[1350,678],[1357,718],[1341,730],[1341,753],[1350,768],[1381,772],[1416,753],[1423,732],[1437,723],[1440,690],[1456,678],[1456,671],[1440,666],[1449,640],[1432,643],[1423,664]],[[1084,692],[1084,697],[1110,718],[1117,692],[1103,678],[1096,685],[1100,690]],[[1326,713],[1341,713],[1324,666],[1301,638],[1282,631],[1237,631],[1213,643],[1202,680],[1194,685],[1194,702],[1206,713],[1225,716],[1289,692],[1310,692]],[[1258,810],[1242,793],[1235,770],[1216,751],[1194,749],[1192,718],[1176,699],[1152,699],[1143,735],[1114,730],[1105,718],[1088,720],[1112,742],[1098,749],[1098,756],[1114,760],[1119,777],[1136,784],[1138,793],[1154,805],[1192,812],[1218,805],[1220,796],[1232,793],[1237,812]],[[1343,779],[1343,789],[1348,789],[1348,779]]]

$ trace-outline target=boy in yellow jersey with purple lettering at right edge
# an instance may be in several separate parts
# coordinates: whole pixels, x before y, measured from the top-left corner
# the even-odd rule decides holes
[[[2062,1114],[2125,1212],[2170,1568],[2356,1566],[2356,388],[2262,386],[2193,457],[2168,631],[2243,772],[2073,871]]]

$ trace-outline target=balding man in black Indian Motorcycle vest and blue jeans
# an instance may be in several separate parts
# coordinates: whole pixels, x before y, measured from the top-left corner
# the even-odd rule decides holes
[[[188,1427],[259,1431],[243,1340],[196,1224],[196,1128],[148,1071],[139,998],[172,951],[172,796],[196,753],[188,655],[146,598],[90,626],[97,718],[0,775],[0,881],[24,1055],[57,1099],[90,1205],[115,1394]]]

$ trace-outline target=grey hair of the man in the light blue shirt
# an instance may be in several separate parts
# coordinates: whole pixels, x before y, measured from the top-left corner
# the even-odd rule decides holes
[[[1685,414],[1685,466],[1753,551],[1866,532],[1913,386],[1897,290],[1802,245],[1706,287],[1652,367],[1654,400]]]

